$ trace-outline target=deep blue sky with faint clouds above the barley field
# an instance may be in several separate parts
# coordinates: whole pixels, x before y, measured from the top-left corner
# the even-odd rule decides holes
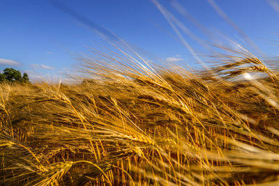
[[[63,8],[59,8],[55,2],[62,4]],[[158,2],[197,38],[209,40],[205,33],[172,6],[171,2],[174,1]],[[177,2],[207,31],[214,33],[214,38],[222,38],[223,33],[243,45],[247,44],[239,31],[223,20],[208,1]],[[262,52],[278,56],[279,13],[271,7],[273,1],[214,2]],[[65,7],[81,18],[69,14]],[[102,26],[110,29],[141,54],[153,58],[153,61],[181,60],[195,65],[188,49],[177,40],[176,33],[152,1],[1,0],[0,70],[12,67],[28,72],[31,78],[36,79],[38,75],[59,76],[61,72],[71,69],[77,64],[77,54],[86,53],[87,46],[98,47],[96,43],[101,42],[98,34],[84,26],[84,19],[91,28],[101,32],[105,32]],[[196,40],[183,31],[181,33],[195,51],[205,51]]]

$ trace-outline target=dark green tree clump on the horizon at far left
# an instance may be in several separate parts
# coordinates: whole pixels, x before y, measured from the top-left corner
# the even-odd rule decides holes
[[[0,73],[0,82],[29,82],[29,77],[27,73],[24,73],[22,76],[22,73],[18,70],[15,70],[13,68],[5,68],[3,70],[3,74]]]

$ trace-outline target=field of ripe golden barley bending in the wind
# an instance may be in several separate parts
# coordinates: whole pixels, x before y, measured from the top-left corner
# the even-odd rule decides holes
[[[78,83],[1,84],[0,185],[279,185],[278,59],[227,50],[197,70],[95,50]]]

